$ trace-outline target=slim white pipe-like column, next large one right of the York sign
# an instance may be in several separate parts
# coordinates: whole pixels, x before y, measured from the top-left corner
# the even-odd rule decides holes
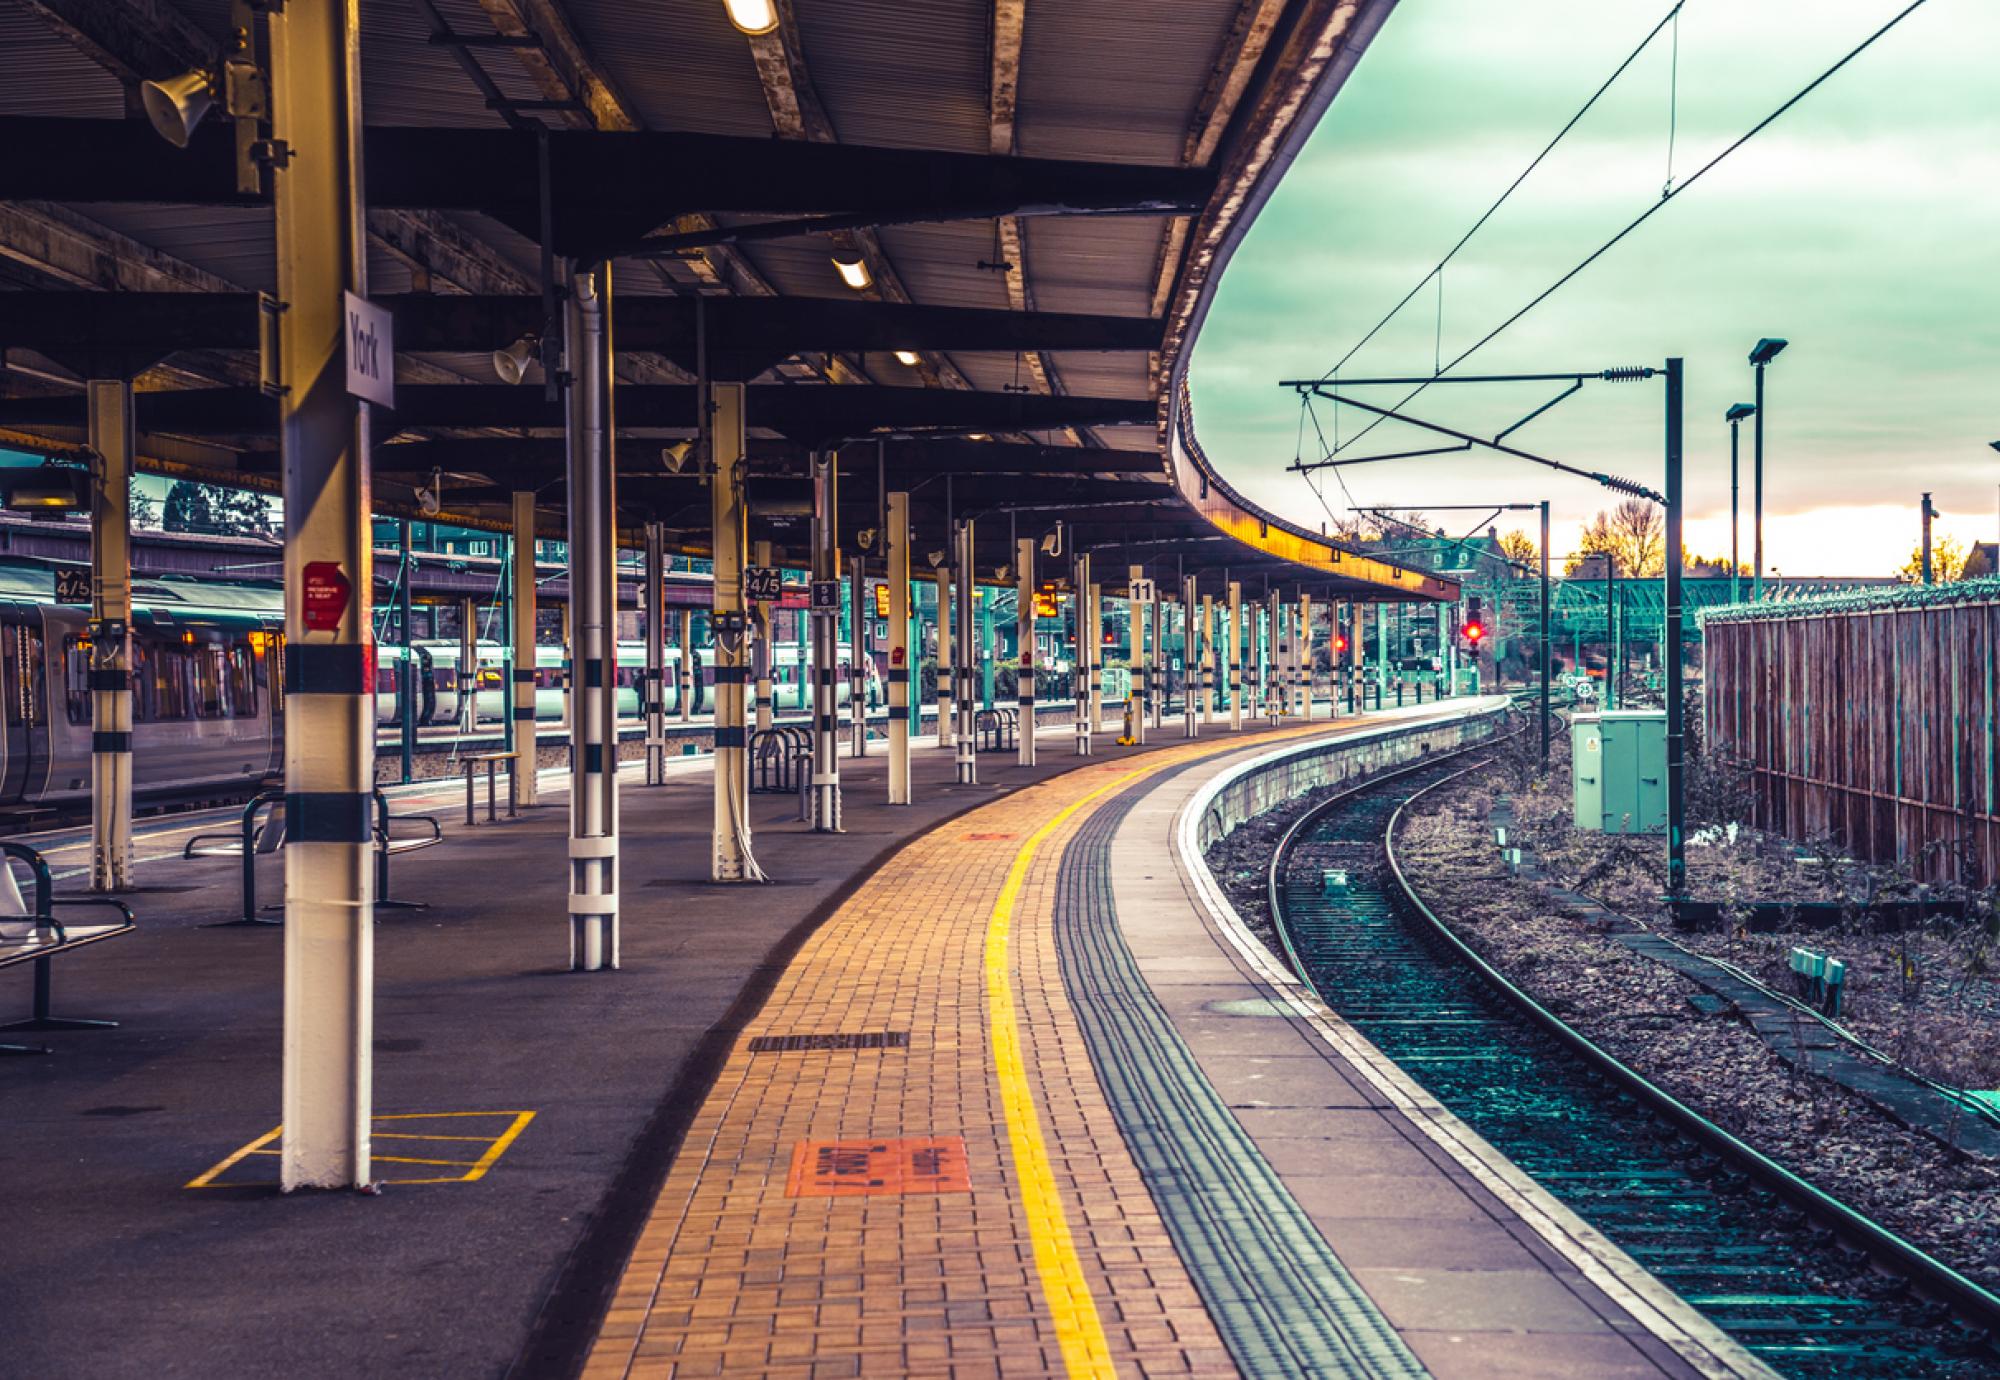
[[[618,480],[612,270],[570,276],[570,970],[618,966]]]

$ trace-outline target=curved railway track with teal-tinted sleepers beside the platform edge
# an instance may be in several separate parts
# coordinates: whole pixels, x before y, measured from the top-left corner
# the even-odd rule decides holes
[[[1292,966],[1344,1020],[1772,1370],[2000,1378],[2000,1298],[1598,1050],[1410,886],[1394,828],[1464,754],[1322,802],[1280,840]],[[1332,874],[1332,876],[1330,876]]]

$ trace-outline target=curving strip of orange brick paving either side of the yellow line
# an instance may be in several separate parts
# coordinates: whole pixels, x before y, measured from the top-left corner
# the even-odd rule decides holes
[[[1214,734],[1144,758],[1114,752],[918,838],[868,878],[738,1038],[584,1374],[1064,1374],[996,1080],[984,970],[994,904],[1020,848],[1064,806],[1132,772],[1242,746]],[[1126,1154],[1056,972],[1056,868],[1092,806],[1036,852],[1008,948],[1060,1210],[1120,1374],[1236,1374]],[[758,1036],[868,1032],[904,1032],[908,1044],[750,1052]],[[900,1194],[786,1192],[802,1142],[954,1136],[970,1192],[936,1192],[936,1180]],[[872,1172],[866,1154],[846,1166]]]

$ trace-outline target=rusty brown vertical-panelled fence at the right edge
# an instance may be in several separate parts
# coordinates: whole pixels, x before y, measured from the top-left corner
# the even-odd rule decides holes
[[[1750,772],[1760,828],[2000,876],[2000,582],[1738,606],[1704,640],[1706,750]]]

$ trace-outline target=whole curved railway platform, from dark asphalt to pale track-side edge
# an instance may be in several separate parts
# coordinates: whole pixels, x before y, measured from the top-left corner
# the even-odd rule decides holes
[[[180,860],[202,822],[146,830],[142,930],[64,986],[124,1024],[8,1070],[10,1366],[1762,1374],[1370,1060],[1190,864],[1188,802],[1232,768],[1470,712],[1106,736],[980,786],[922,752],[908,808],[850,762],[844,834],[758,798],[752,892],[704,878],[690,764],[622,792],[600,978],[562,964],[560,794],[470,830],[402,794],[448,842],[398,870],[428,908],[376,926],[378,1198],[282,1204],[278,936],[218,924],[234,864]]]

